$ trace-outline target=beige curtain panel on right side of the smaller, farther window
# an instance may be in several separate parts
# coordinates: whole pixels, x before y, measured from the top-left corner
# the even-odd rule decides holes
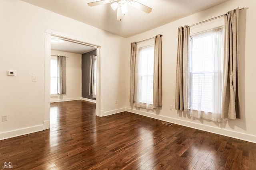
[[[155,37],[154,48],[154,82],[153,82],[153,107],[162,106],[162,37]]]

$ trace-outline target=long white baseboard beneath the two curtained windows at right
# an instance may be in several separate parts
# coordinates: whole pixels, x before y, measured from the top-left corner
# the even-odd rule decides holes
[[[167,121],[167,122],[174,123],[177,125],[190,127],[193,129],[198,129],[198,130],[202,130],[202,131],[206,131],[206,132],[210,132],[210,133],[215,133],[218,135],[223,135],[223,136],[232,137],[235,139],[240,139],[243,141],[248,141],[251,143],[256,143],[256,135],[250,135],[250,134],[246,134],[246,133],[230,131],[227,129],[220,129],[220,128],[216,128],[216,127],[212,127],[212,126],[208,126],[208,125],[201,125],[201,124],[190,122],[190,121],[184,121],[184,120],[170,118],[170,117],[166,117],[166,116],[162,116],[162,115],[156,115],[154,113],[148,113],[146,111],[139,111],[139,110],[130,109],[127,107],[126,107],[126,111],[129,111],[131,113],[135,113],[138,115],[143,115],[146,117],[151,117],[153,119],[158,119],[161,121]]]

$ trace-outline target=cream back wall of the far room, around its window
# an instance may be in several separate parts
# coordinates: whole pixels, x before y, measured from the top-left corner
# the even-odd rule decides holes
[[[66,56],[66,95],[51,97],[51,102],[80,100],[82,97],[82,55],[51,50],[51,55]]]

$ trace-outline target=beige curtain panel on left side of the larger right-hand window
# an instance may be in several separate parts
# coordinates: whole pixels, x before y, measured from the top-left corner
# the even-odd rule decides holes
[[[185,25],[178,28],[178,51],[176,68],[176,97],[175,109],[189,111],[188,109],[188,35],[190,27]]]

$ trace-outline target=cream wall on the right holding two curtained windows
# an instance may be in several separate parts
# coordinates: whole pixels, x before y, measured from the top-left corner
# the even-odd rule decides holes
[[[214,123],[203,119],[193,119],[186,114],[177,110],[170,110],[169,106],[175,106],[175,83],[176,83],[176,59],[177,59],[177,42],[178,27],[184,25],[192,25],[222,14],[226,14],[229,10],[236,8],[240,10],[240,75],[241,75],[241,91],[242,91],[242,115],[241,119],[230,120],[228,123]],[[191,16],[168,23],[156,29],[141,33],[139,35],[129,37],[126,41],[126,107],[127,111],[142,114],[157,119],[162,119],[172,123],[202,129],[221,135],[235,137],[246,141],[256,143],[256,127],[255,127],[255,96],[256,96],[256,57],[255,57],[255,16],[256,1],[254,0],[230,0],[208,10],[198,12]],[[129,103],[130,91],[130,43],[154,37],[162,34],[162,108],[154,111],[146,109],[136,110]]]

